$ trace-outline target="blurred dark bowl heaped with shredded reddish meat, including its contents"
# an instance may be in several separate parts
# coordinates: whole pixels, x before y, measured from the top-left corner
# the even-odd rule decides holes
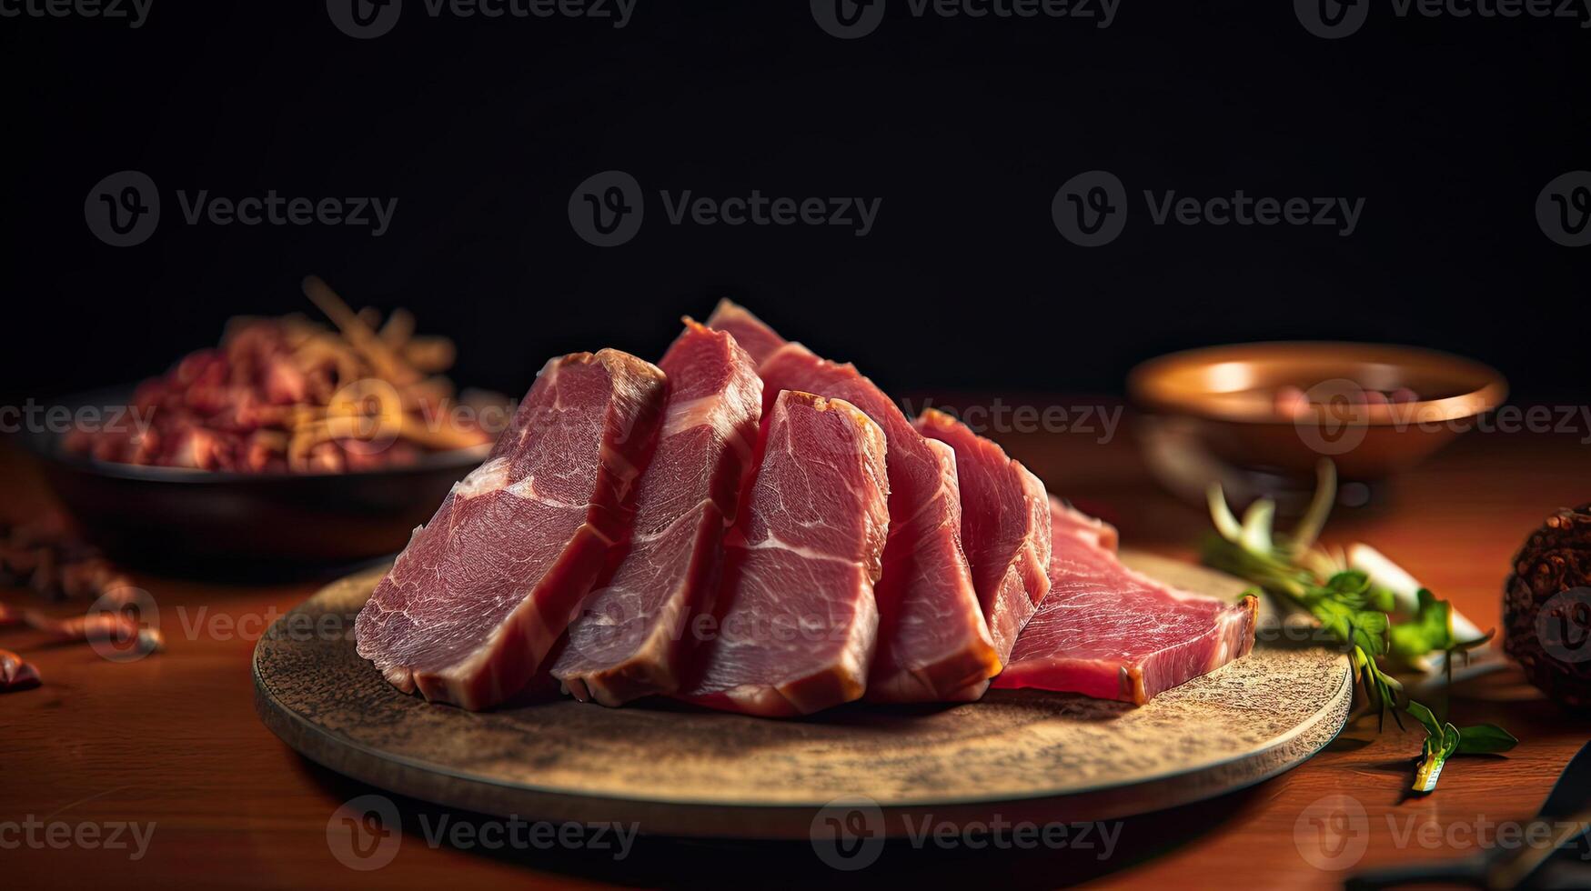
[[[237,318],[156,379],[60,399],[25,436],[78,530],[134,566],[293,576],[399,551],[511,417],[455,396],[452,345],[305,291],[336,328]],[[88,418],[92,423],[88,423]]]

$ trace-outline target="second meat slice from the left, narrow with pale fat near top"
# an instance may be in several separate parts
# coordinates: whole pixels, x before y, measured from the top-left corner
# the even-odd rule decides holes
[[[724,528],[754,469],[762,379],[735,339],[686,320],[660,363],[668,404],[624,560],[570,624],[552,675],[582,702],[675,692],[686,625],[713,608]]]

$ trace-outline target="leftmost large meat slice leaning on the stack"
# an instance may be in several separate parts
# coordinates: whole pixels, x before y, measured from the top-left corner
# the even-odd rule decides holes
[[[665,377],[619,350],[549,361],[355,624],[404,692],[469,710],[519,692],[630,531]]]

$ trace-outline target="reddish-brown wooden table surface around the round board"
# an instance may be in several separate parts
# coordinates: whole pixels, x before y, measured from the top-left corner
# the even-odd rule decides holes
[[[1327,539],[1373,543],[1478,625],[1491,627],[1499,622],[1500,586],[1519,543],[1553,509],[1591,500],[1591,450],[1580,436],[1472,433],[1398,479],[1387,504],[1333,520]],[[1130,430],[1107,444],[1098,438],[1002,439],[1052,490],[1115,522],[1126,543],[1190,557],[1206,525],[1201,512],[1149,482]],[[48,504],[29,460],[5,449],[0,492],[5,519]],[[1219,800],[1107,827],[1115,832],[1109,851],[1103,840],[1064,850],[891,842],[873,867],[837,872],[805,842],[643,835],[624,859],[616,859],[614,850],[460,848],[431,843],[426,829],[447,819],[449,826],[485,831],[490,821],[399,799],[396,856],[382,869],[361,872],[334,856],[328,824],[333,837],[345,840],[339,805],[379,789],[301,759],[255,716],[255,641],[270,619],[318,586],[137,578],[159,603],[169,641],[162,654],[113,663],[86,646],[38,649],[25,635],[0,636],[0,646],[25,651],[45,676],[40,689],[0,697],[5,888],[226,883],[434,889],[504,883],[872,885],[880,878],[983,888],[1324,888],[1346,873],[1322,869],[1322,862],[1330,867],[1346,858],[1365,867],[1454,858],[1492,843],[1499,824],[1535,813],[1559,770],[1591,737],[1591,719],[1545,702],[1510,668],[1456,691],[1451,708],[1459,724],[1502,722],[1521,745],[1505,757],[1454,759],[1429,797],[1403,794],[1418,732],[1376,732],[1373,719],[1359,719],[1290,773]],[[0,601],[37,605],[25,592],[3,589]],[[1330,845],[1322,850],[1314,834],[1311,818],[1332,813],[1354,819],[1346,824],[1346,853]],[[118,831],[119,824],[129,827]],[[146,834],[137,859],[134,824]],[[115,832],[124,848],[107,843]],[[1360,843],[1363,854],[1354,858]],[[1328,859],[1333,856],[1338,859]]]

